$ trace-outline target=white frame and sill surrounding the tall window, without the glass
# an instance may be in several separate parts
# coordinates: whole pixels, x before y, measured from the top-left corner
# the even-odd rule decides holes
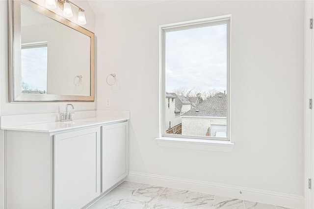
[[[227,137],[198,137],[166,134],[165,125],[165,34],[166,32],[227,24]],[[181,23],[172,23],[159,26],[159,137],[156,139],[159,146],[192,148],[231,152],[234,143],[231,142],[230,131],[230,41],[231,41],[231,15],[193,20]]]

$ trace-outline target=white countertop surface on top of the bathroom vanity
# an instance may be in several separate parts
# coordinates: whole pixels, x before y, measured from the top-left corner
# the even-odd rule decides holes
[[[13,131],[32,131],[32,132],[57,132],[64,131],[74,128],[82,128],[93,125],[101,125],[114,122],[126,121],[130,118],[128,117],[90,117],[83,119],[76,119],[67,122],[48,122],[48,123],[38,123],[30,125],[20,125],[20,126],[7,126],[1,127],[2,130],[13,130]]]

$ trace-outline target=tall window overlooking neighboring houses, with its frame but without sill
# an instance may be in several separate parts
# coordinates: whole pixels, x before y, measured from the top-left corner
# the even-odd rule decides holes
[[[230,19],[160,26],[161,137],[230,140]]]

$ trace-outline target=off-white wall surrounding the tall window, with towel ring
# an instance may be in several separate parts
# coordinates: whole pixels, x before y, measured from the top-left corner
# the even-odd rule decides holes
[[[158,26],[227,14],[233,151],[159,147]],[[302,196],[303,21],[304,2],[286,0],[166,1],[97,16],[97,109],[111,98],[107,109],[131,110],[130,171]],[[104,82],[112,72],[119,91]]]

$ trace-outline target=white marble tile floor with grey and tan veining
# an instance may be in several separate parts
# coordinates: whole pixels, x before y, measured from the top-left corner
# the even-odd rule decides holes
[[[123,182],[88,209],[287,209],[195,191]]]

